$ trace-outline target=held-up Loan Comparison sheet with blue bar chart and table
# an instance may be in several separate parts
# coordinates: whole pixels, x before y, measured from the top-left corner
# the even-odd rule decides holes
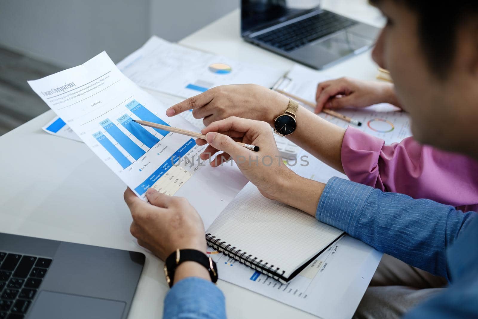
[[[247,183],[235,166],[212,168],[201,161],[205,146],[194,139],[132,121],[197,130],[181,117],[166,117],[166,106],[125,77],[106,52],[28,83],[143,200],[150,187],[183,196],[207,228]]]

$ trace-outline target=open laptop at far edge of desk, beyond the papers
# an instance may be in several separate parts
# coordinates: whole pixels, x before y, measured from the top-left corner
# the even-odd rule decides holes
[[[245,41],[315,69],[367,50],[379,33],[322,10],[320,0],[241,0]]]

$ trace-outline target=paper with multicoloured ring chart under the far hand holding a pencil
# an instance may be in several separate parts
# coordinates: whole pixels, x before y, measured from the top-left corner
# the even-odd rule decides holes
[[[287,85],[287,88],[279,87],[279,89],[311,102],[315,102],[317,84],[332,79],[326,72],[314,71],[301,65],[293,66],[287,77],[291,79],[290,82],[284,84]],[[308,106],[305,107],[312,110]],[[408,113],[399,111],[398,108],[388,103],[376,104],[364,109],[340,109],[337,112],[362,122],[361,126],[353,126],[383,139],[387,145],[412,136]],[[323,112],[319,116],[343,128],[347,128],[349,125],[348,122]]]

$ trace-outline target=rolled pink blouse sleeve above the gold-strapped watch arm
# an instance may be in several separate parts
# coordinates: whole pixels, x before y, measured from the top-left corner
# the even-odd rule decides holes
[[[385,145],[377,137],[348,127],[342,166],[354,182],[432,199],[463,211],[478,209],[478,162],[421,145],[412,137]]]

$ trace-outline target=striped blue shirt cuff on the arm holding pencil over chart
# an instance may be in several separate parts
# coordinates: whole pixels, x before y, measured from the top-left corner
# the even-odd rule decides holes
[[[356,237],[360,214],[373,188],[332,177],[327,182],[315,218]]]

